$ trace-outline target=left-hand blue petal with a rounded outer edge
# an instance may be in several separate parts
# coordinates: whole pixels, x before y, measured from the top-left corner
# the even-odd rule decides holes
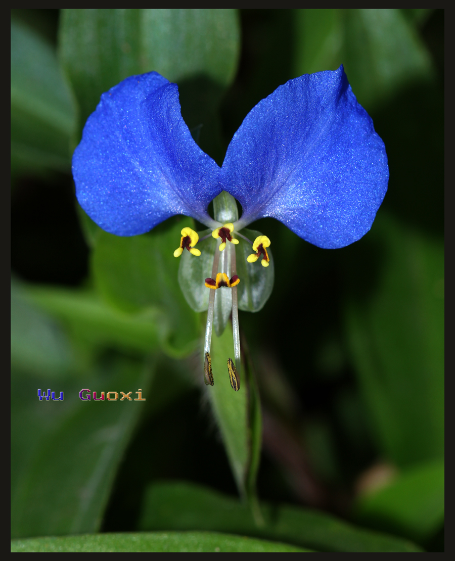
[[[134,236],[174,214],[210,225],[220,168],[192,139],[178,89],[157,72],[101,96],[72,160],[76,195],[107,232]]]

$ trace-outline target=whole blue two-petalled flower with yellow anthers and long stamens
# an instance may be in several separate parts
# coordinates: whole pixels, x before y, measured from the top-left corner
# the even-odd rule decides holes
[[[213,385],[215,291],[222,302],[217,306],[224,310],[222,324],[232,310],[235,364],[229,358],[228,373],[235,390],[240,388],[237,236],[254,250],[246,260],[261,257],[261,274],[273,279],[269,238],[260,235],[252,242],[240,231],[258,218],[273,217],[316,246],[346,246],[370,229],[389,177],[384,143],[357,103],[342,66],[289,80],[258,103],[234,135],[221,168],[192,139],[180,113],[177,85],[157,72],[131,76],[101,96],[73,155],[72,171],[80,205],[107,232],[135,236],[185,214],[213,231],[219,250],[228,248],[222,260],[215,250],[212,278],[205,279],[205,286],[198,283],[197,290],[207,287],[210,293],[208,300],[203,293],[201,308],[208,310],[206,384]],[[223,222],[207,213],[222,191],[242,205],[240,219],[226,193],[218,197],[217,208],[227,206],[215,214]],[[191,259],[202,259],[194,247],[198,234],[189,227],[181,233],[174,256],[187,249]],[[221,287],[226,288],[217,290]]]

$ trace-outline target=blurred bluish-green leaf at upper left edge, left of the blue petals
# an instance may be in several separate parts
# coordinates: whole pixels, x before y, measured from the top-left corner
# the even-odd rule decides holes
[[[76,112],[57,56],[44,38],[11,21],[11,156],[22,167],[68,171]]]

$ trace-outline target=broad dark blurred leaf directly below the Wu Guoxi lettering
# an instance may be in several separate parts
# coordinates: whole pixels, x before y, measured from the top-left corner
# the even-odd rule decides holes
[[[146,399],[152,372],[141,363],[116,361],[108,376],[85,380],[83,387],[119,394],[142,388]],[[56,390],[63,390],[63,402],[39,402],[35,380],[22,382],[22,392],[19,388],[13,392],[18,405],[13,407],[12,441],[19,454],[21,445],[34,441],[33,454],[20,466],[12,488],[13,537],[99,530],[117,466],[146,403],[82,402],[81,387],[61,385]],[[56,418],[53,410],[58,408],[66,409],[66,415]],[[24,411],[28,422],[22,419]],[[54,426],[43,430],[47,415],[53,417]]]

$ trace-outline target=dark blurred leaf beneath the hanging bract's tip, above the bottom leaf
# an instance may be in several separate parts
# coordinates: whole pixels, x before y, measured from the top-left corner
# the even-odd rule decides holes
[[[146,491],[141,530],[209,530],[267,537],[318,551],[420,551],[406,540],[357,528],[329,514],[261,503],[258,527],[238,499],[187,482],[157,482]]]

